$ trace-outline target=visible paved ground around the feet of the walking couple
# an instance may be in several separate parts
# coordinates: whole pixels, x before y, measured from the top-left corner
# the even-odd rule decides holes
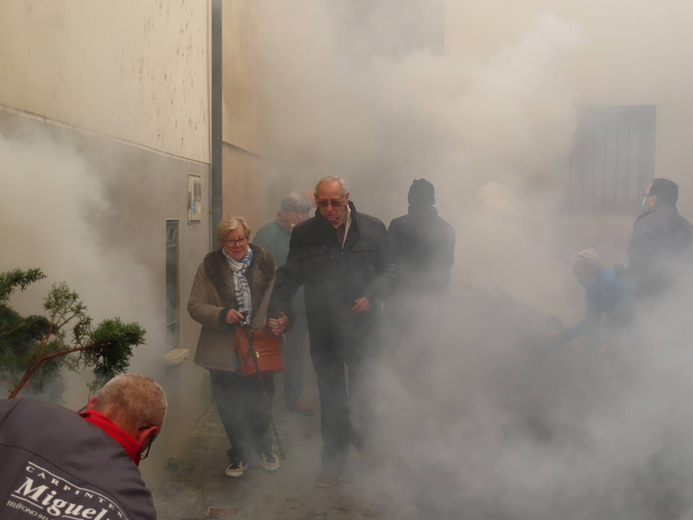
[[[315,376],[312,370],[306,372],[304,402],[316,411],[315,417],[283,409],[283,385],[277,376],[274,418],[287,457],[279,470],[264,471],[254,454],[243,477],[225,476],[228,440],[216,408],[211,408],[151,486],[160,520],[410,517],[401,508],[395,512],[392,503],[378,499],[374,486],[366,487],[358,478],[359,456],[353,449],[347,481],[329,489],[315,487],[320,468],[319,406]]]

